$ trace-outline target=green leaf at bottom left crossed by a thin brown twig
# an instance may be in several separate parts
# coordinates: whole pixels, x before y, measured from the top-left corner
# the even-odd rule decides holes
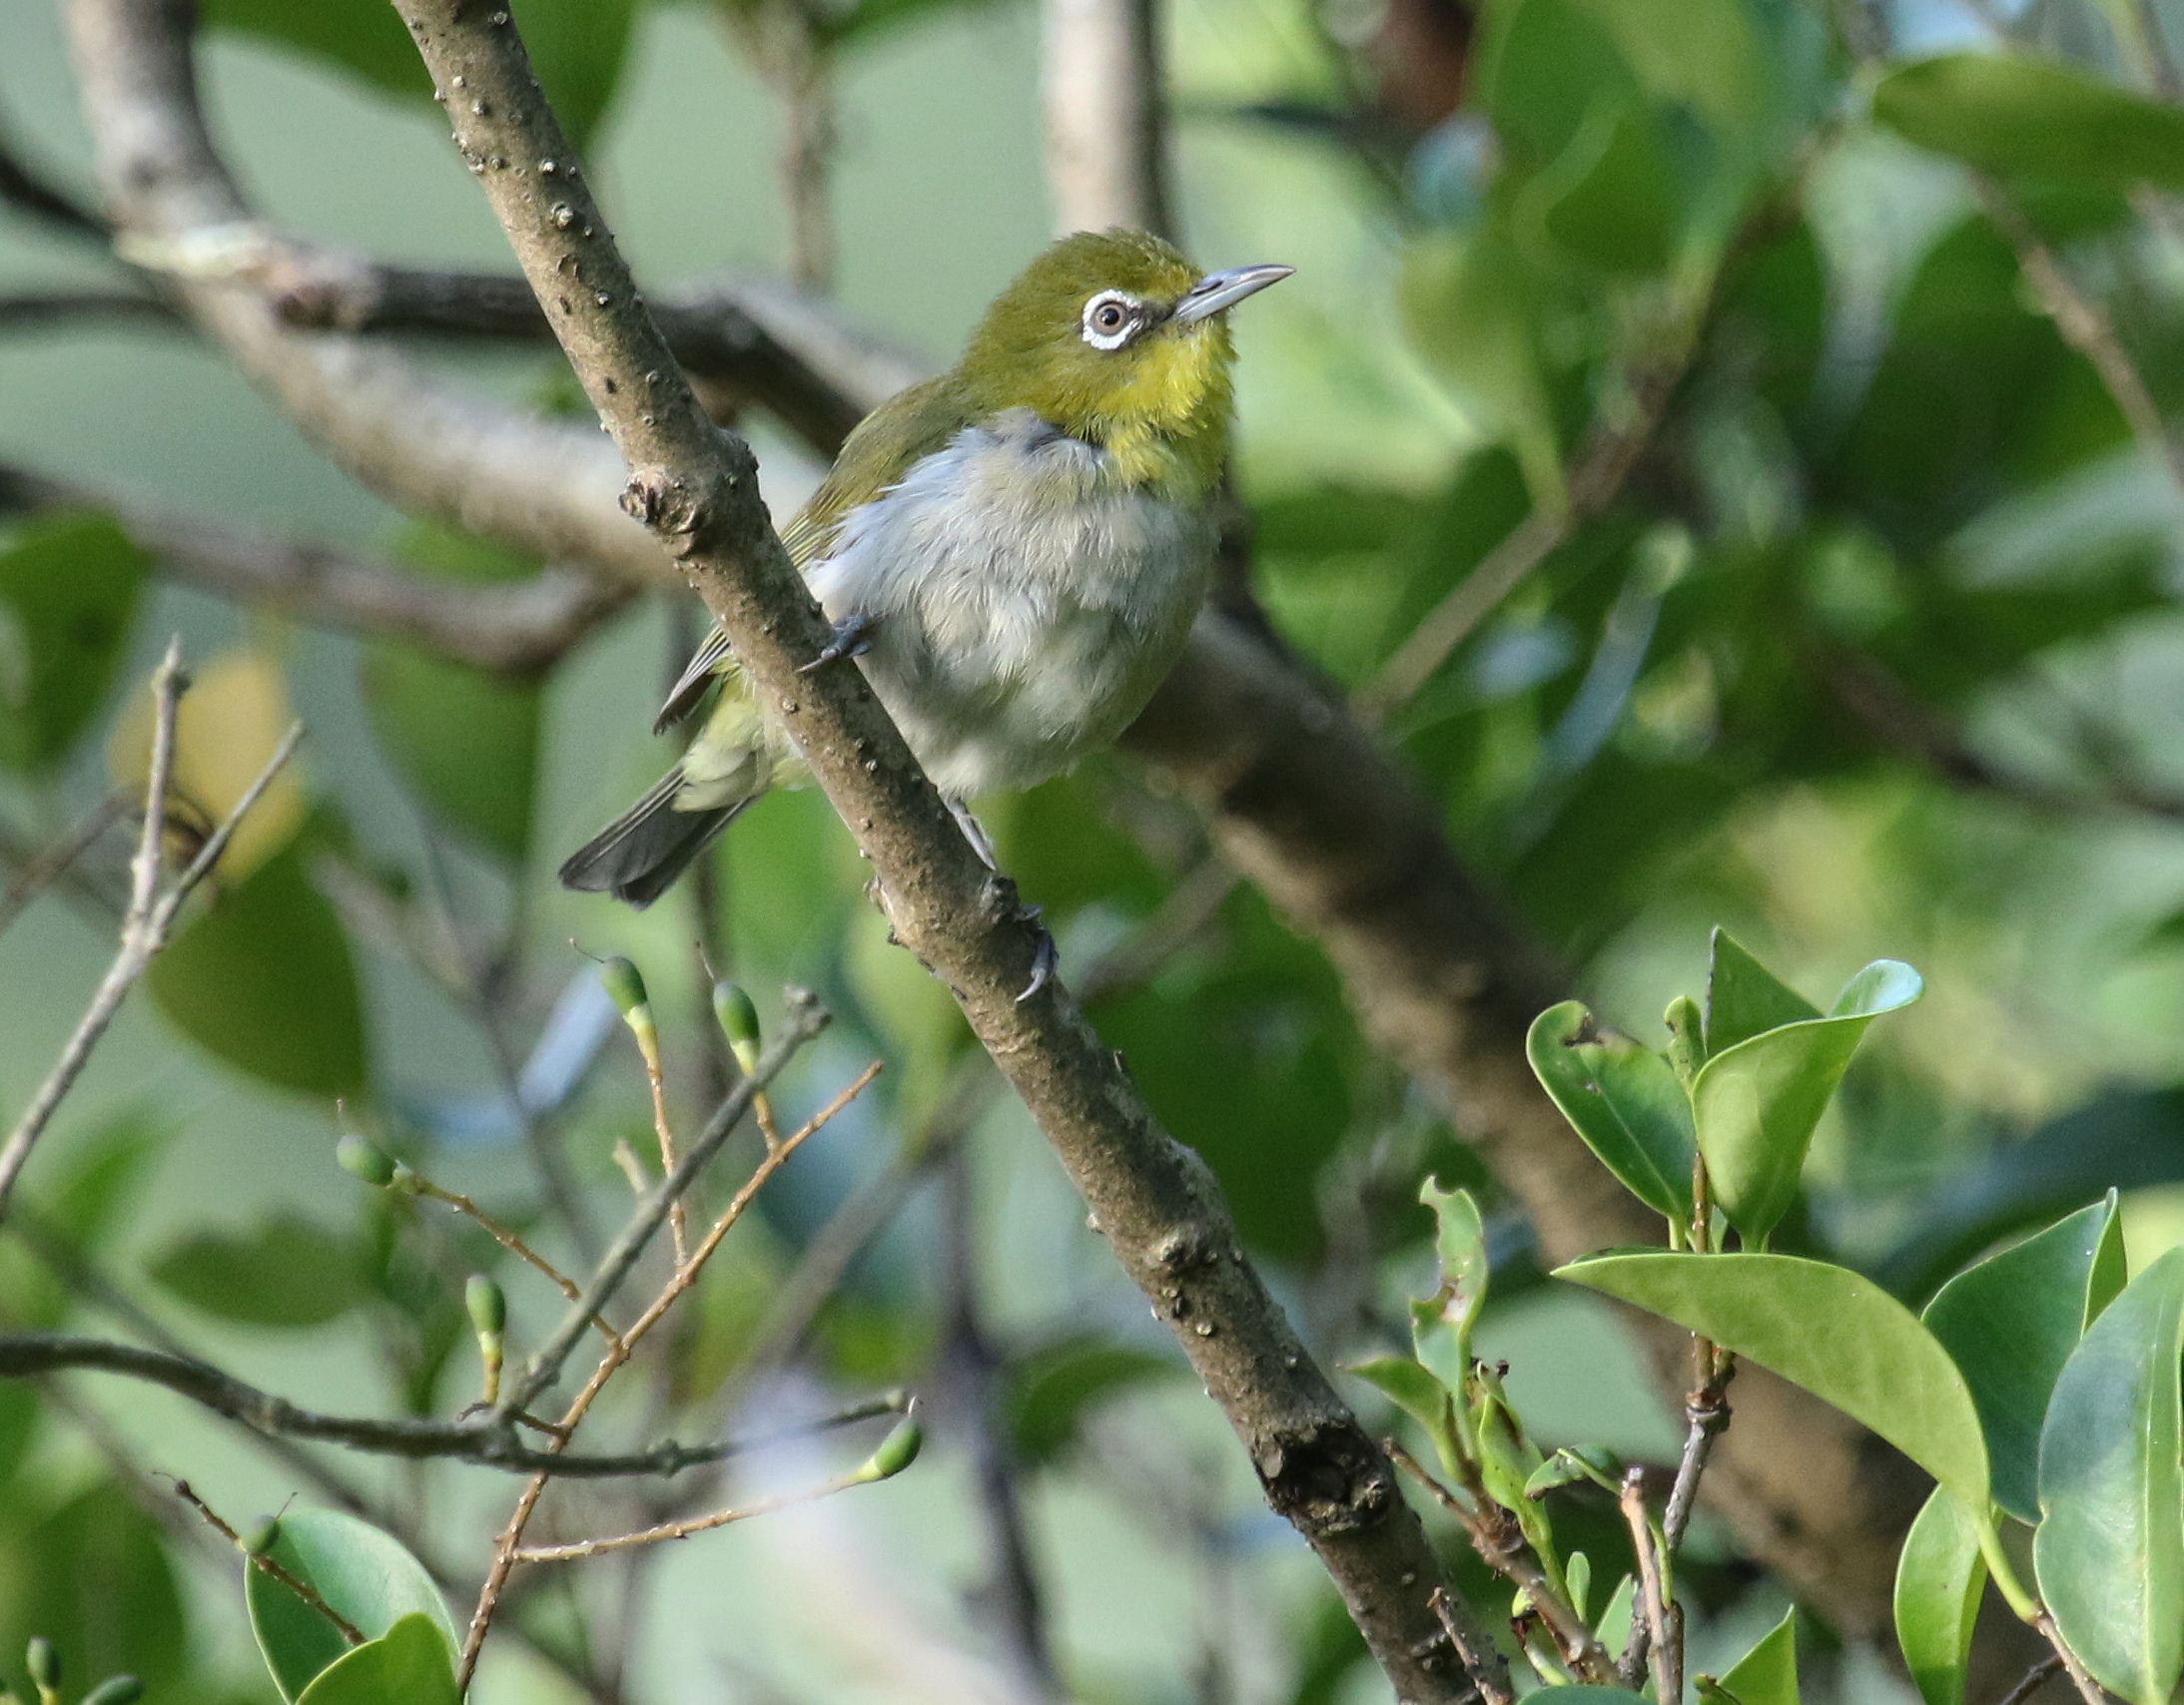
[[[406,1618],[437,1631],[441,1657],[459,1650],[448,1602],[432,1576],[393,1537],[341,1511],[288,1511],[280,1519],[273,1561],[308,1583],[367,1640],[378,1640]],[[249,1570],[242,1583],[251,1631],[264,1653],[273,1685],[295,1701],[336,1664],[349,1646],[341,1631],[264,1570]],[[404,1637],[408,1640],[408,1637]],[[356,1650],[363,1650],[358,1646]],[[402,1698],[391,1694],[389,1698]],[[373,1705],[387,1705],[373,1701]],[[406,1701],[404,1701],[406,1705]]]

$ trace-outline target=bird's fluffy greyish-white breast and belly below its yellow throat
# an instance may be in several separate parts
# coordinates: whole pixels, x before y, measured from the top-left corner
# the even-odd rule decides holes
[[[808,570],[952,799],[1029,788],[1109,744],[1206,598],[1212,524],[1125,485],[1029,408],[959,432],[856,509]]]

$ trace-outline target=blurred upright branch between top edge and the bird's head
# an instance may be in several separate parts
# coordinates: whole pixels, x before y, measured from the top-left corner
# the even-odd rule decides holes
[[[1160,0],[1042,0],[1040,94],[1055,229],[1175,236]]]

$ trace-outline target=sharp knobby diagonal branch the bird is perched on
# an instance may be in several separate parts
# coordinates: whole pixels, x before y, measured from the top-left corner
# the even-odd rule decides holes
[[[118,0],[79,0],[79,4]],[[917,768],[863,677],[804,675],[830,640],[758,504],[749,448],[723,434],[677,382],[605,220],[566,170],[570,151],[507,13],[461,0],[402,7],[450,103],[456,144],[616,445],[625,493],[736,648],[762,703],[791,729],[815,782],[871,858],[895,937],[957,995],[972,1033],[1016,1085],[1138,1286],[1260,1469],[1267,1498],[1334,1574],[1398,1692],[1455,1698],[1455,1666],[1426,1598],[1437,1565],[1393,1474],[1241,1257],[1234,1220],[1203,1166],[1151,1118],[1059,982],[1018,1000],[1040,958],[1035,919],[996,880]],[[505,162],[505,166],[494,166]],[[546,162],[555,170],[546,172]],[[526,1378],[529,1384],[529,1378]]]

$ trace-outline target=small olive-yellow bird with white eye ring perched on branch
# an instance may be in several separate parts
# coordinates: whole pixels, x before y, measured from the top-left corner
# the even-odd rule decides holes
[[[782,544],[834,622],[810,668],[858,657],[992,862],[968,801],[1109,744],[1175,664],[1206,598],[1227,458],[1225,310],[1289,266],[1199,273],[1142,231],[1079,231],[994,299],[948,373],[880,404]],[[795,744],[714,629],[655,729],[719,681],[660,784],[561,867],[649,906]]]

